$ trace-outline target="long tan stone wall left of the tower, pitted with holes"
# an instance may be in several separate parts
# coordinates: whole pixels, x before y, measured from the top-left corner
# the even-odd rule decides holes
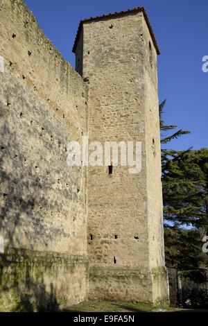
[[[87,85],[21,0],[0,1],[0,57],[1,307],[7,292],[32,289],[33,282],[45,295],[53,286],[58,304],[63,297],[73,304],[87,298],[86,171],[67,166],[67,143],[87,133]],[[62,259],[67,266],[77,259],[73,272]]]

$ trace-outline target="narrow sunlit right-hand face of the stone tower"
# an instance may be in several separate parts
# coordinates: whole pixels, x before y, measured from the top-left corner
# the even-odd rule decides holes
[[[168,295],[168,276],[166,268],[164,267],[157,52],[145,20],[143,20],[142,37],[144,40],[144,112],[146,128],[148,250],[149,267],[153,274],[153,301],[155,301],[157,298],[165,298]]]

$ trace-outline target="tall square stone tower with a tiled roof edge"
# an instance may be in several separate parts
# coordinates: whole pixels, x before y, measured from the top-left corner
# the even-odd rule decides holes
[[[159,49],[144,8],[80,22],[73,51],[89,84],[89,142],[142,142],[138,174],[89,166],[89,298],[166,301]]]

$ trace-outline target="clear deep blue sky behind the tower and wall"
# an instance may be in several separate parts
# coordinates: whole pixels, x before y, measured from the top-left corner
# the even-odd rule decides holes
[[[161,55],[158,57],[159,101],[167,99],[164,120],[191,130],[168,147],[207,147],[208,55],[207,0],[25,0],[37,22],[60,53],[74,65],[71,53],[80,19],[144,6]]]

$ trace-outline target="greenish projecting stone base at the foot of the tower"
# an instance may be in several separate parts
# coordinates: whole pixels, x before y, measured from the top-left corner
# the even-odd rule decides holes
[[[89,300],[130,300],[169,304],[166,268],[89,268]]]

